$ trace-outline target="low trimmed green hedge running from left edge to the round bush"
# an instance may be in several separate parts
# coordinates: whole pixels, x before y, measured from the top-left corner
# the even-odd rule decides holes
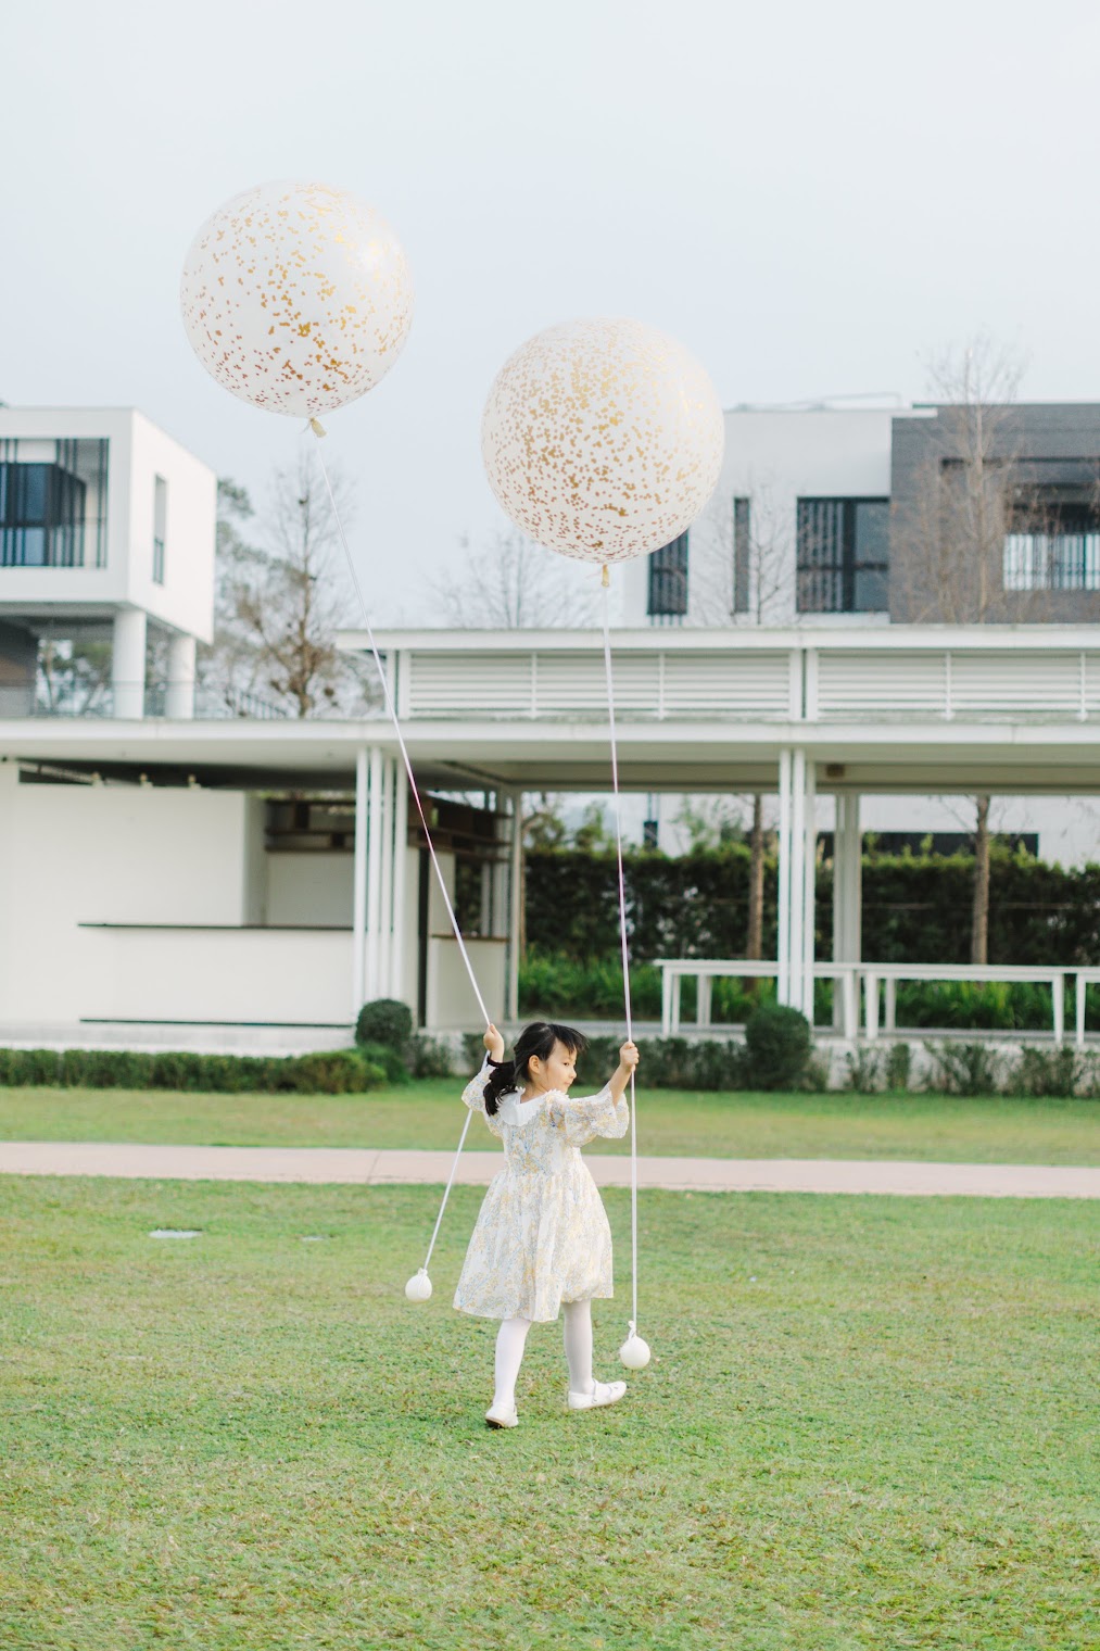
[[[0,1085],[7,1088],[51,1085],[206,1095],[360,1095],[386,1081],[385,1067],[352,1048],[319,1050],[314,1055],[0,1048]]]

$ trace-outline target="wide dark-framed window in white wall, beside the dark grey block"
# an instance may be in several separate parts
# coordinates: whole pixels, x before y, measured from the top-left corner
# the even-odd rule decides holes
[[[798,500],[799,613],[884,611],[889,566],[889,499]]]

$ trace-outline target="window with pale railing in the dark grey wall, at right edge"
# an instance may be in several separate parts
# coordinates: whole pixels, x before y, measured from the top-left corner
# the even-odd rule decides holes
[[[1017,494],[1003,571],[1006,591],[1100,591],[1100,512],[1087,490]]]

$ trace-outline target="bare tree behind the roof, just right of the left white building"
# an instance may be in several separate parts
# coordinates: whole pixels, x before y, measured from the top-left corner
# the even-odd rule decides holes
[[[339,472],[332,485],[347,520]],[[377,690],[367,665],[335,646],[337,629],[357,614],[329,494],[306,452],[276,472],[259,545],[244,538],[253,518],[244,489],[220,482],[215,641],[200,662],[203,685],[230,703],[261,695],[291,717],[362,712]]]

